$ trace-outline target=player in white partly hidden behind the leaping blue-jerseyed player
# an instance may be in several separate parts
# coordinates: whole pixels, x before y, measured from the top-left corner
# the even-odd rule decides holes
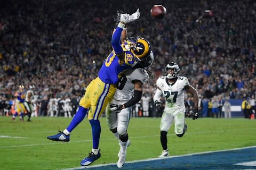
[[[135,67],[147,68],[154,62],[153,52],[140,61]],[[109,107],[106,108],[107,124],[111,132],[119,141],[120,150],[118,153],[117,167],[124,165],[127,146],[130,140],[127,128],[131,116],[131,106],[138,103],[142,96],[143,84],[149,80],[149,75],[145,69],[130,69],[124,72],[117,83],[117,90]]]

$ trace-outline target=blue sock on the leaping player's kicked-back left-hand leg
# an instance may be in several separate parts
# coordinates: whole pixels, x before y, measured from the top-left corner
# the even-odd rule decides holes
[[[76,126],[84,120],[85,115],[87,114],[88,109],[84,108],[82,106],[79,106],[78,111],[76,112],[75,116],[73,117],[73,120],[68,125],[67,130],[69,132],[73,131],[73,129],[76,128]]]

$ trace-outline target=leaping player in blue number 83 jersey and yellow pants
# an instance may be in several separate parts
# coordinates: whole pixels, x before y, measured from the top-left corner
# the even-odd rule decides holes
[[[111,45],[114,50],[103,62],[98,77],[87,86],[73,120],[63,132],[47,137],[47,139],[54,141],[68,142],[71,131],[84,119],[88,112],[89,122],[92,127],[93,147],[89,156],[82,160],[82,166],[90,165],[101,156],[99,149],[101,132],[99,117],[113,99],[118,79],[124,71],[135,66],[141,59],[150,54],[150,44],[144,38],[131,38],[121,43],[121,35],[125,25],[139,19],[139,17],[139,9],[132,15],[120,15],[120,22],[111,38]]]

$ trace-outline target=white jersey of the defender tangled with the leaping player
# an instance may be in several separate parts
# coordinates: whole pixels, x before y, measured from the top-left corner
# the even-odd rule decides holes
[[[118,87],[114,95],[116,101],[122,101],[123,104],[126,101],[130,100],[134,91],[133,80],[139,80],[142,84],[146,84],[149,80],[149,75],[145,69],[130,69],[124,72],[121,81],[118,81]]]

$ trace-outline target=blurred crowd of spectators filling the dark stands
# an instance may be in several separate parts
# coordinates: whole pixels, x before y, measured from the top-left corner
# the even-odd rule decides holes
[[[164,19],[150,16],[154,4],[166,7]],[[44,97],[83,95],[111,51],[116,11],[131,14],[137,8],[141,18],[129,24],[128,34],[148,39],[155,54],[147,96],[154,95],[155,82],[171,61],[201,99],[256,93],[253,0],[10,0],[0,10],[0,100],[13,99],[19,84],[34,84],[38,103]]]

